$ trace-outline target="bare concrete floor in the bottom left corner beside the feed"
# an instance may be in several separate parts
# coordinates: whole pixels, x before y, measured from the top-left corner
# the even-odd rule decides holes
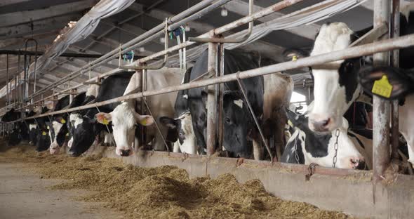
[[[0,218],[122,218],[100,204],[74,201],[73,197],[86,191],[48,190],[62,181],[41,179],[21,170],[22,164],[0,159]]]

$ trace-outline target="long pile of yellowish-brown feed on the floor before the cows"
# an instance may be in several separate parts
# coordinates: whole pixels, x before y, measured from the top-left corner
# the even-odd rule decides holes
[[[349,218],[283,201],[265,192],[258,180],[241,184],[229,174],[189,179],[175,166],[138,168],[117,159],[51,156],[27,145],[1,151],[0,161],[22,162],[41,177],[66,180],[53,189],[94,191],[78,198],[102,201],[126,218]]]

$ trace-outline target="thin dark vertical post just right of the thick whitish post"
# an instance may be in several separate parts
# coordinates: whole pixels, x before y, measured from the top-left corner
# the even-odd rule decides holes
[[[392,0],[391,37],[398,37],[400,33],[400,1]],[[399,50],[392,52],[392,66],[399,67]],[[391,127],[392,127],[392,159],[399,159],[399,113],[398,100],[392,101]]]

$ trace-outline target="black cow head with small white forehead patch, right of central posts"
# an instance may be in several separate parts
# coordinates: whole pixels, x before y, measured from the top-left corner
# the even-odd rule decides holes
[[[223,95],[223,146],[235,157],[249,157],[248,140],[255,131],[253,117],[244,102],[241,91],[225,91]]]

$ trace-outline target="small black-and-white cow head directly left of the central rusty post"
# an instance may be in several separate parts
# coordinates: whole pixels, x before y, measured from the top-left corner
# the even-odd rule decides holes
[[[176,119],[161,117],[159,121],[163,126],[168,127],[167,139],[171,142],[178,140],[182,153],[196,154],[196,135],[194,135],[192,117],[189,112],[184,112]]]

